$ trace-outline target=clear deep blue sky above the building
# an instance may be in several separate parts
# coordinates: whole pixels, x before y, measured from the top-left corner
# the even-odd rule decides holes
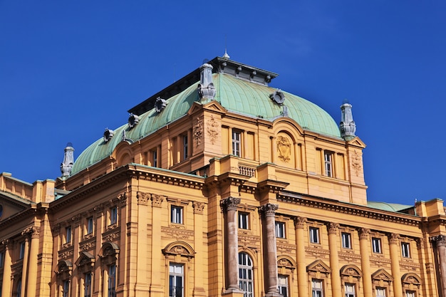
[[[227,51],[338,122],[368,199],[446,199],[446,1],[0,0],[0,172],[55,179],[127,110]]]

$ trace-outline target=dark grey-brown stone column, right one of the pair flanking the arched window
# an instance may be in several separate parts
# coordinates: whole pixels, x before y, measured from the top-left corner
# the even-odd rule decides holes
[[[265,291],[266,297],[281,296],[279,294],[278,279],[277,279],[277,245],[276,245],[276,210],[279,208],[276,204],[265,204],[260,207],[263,214],[264,224],[264,246],[265,256],[264,263],[266,265],[265,276]],[[265,244],[266,243],[266,244]]]

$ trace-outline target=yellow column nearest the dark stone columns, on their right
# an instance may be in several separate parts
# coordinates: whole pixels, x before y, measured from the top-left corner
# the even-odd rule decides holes
[[[297,256],[297,286],[299,297],[308,296],[306,263],[305,263],[305,232],[306,218],[296,217],[294,227],[296,228],[296,256]]]

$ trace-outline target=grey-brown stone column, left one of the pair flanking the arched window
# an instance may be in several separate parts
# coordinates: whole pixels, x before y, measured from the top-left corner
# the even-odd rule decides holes
[[[220,202],[226,213],[226,255],[227,290],[224,293],[242,292],[239,287],[239,236],[237,225],[237,204],[240,198],[229,197]]]

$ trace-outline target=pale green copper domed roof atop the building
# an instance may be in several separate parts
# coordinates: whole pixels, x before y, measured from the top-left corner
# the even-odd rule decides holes
[[[269,97],[276,88],[236,78],[226,73],[214,73],[212,80],[217,90],[214,100],[227,110],[271,121],[283,116],[283,106],[274,103]],[[123,141],[124,132],[126,140],[135,142],[186,115],[192,104],[199,100],[198,84],[199,81],[167,99],[167,105],[160,113],[157,113],[155,108],[142,113],[135,127],[131,128],[128,124],[118,127],[108,142],[105,142],[103,138],[93,142],[79,155],[73,165],[71,175],[110,156],[119,142]],[[299,123],[301,127],[322,135],[341,138],[338,125],[325,110],[291,93],[282,92],[282,94],[285,97],[283,105],[288,108],[288,117]]]

